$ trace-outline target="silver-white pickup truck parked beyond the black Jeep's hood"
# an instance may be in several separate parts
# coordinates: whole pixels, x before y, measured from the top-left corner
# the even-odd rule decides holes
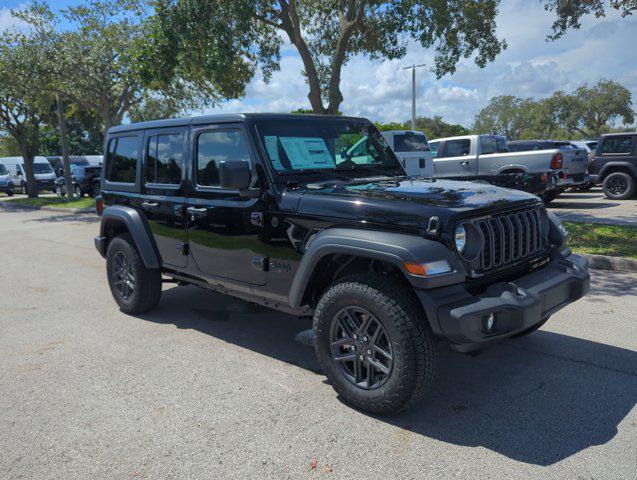
[[[499,135],[465,135],[436,138],[429,142],[437,178],[467,178],[489,181],[494,175],[545,173],[555,179],[542,194],[545,202],[566,188],[586,182],[587,155],[583,149],[564,147],[546,150],[509,151]]]

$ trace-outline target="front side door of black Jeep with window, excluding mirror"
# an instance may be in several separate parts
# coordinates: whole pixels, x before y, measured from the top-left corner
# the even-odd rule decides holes
[[[262,202],[221,188],[219,179],[224,161],[240,160],[254,167],[246,133],[239,125],[217,125],[193,131],[192,138],[192,192],[186,212],[188,244],[198,273],[211,280],[265,285]]]

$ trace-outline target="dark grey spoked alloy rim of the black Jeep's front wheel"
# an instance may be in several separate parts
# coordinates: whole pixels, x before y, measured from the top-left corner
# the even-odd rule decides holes
[[[394,362],[387,331],[364,308],[346,307],[334,316],[330,352],[343,376],[359,388],[379,388],[391,375]]]

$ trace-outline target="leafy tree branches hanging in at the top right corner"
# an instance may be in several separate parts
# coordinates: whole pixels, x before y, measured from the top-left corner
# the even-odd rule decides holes
[[[608,10],[616,10],[621,13],[622,18],[632,15],[637,10],[636,0],[544,0],[544,8],[555,14],[556,18],[552,25],[550,40],[556,40],[571,28],[579,29],[582,17],[595,15],[595,17],[605,17]]]

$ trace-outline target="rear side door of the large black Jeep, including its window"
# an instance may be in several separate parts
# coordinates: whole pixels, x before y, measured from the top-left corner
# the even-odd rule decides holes
[[[162,264],[185,267],[188,261],[184,212],[187,129],[146,131],[143,152],[139,208],[148,220]]]

